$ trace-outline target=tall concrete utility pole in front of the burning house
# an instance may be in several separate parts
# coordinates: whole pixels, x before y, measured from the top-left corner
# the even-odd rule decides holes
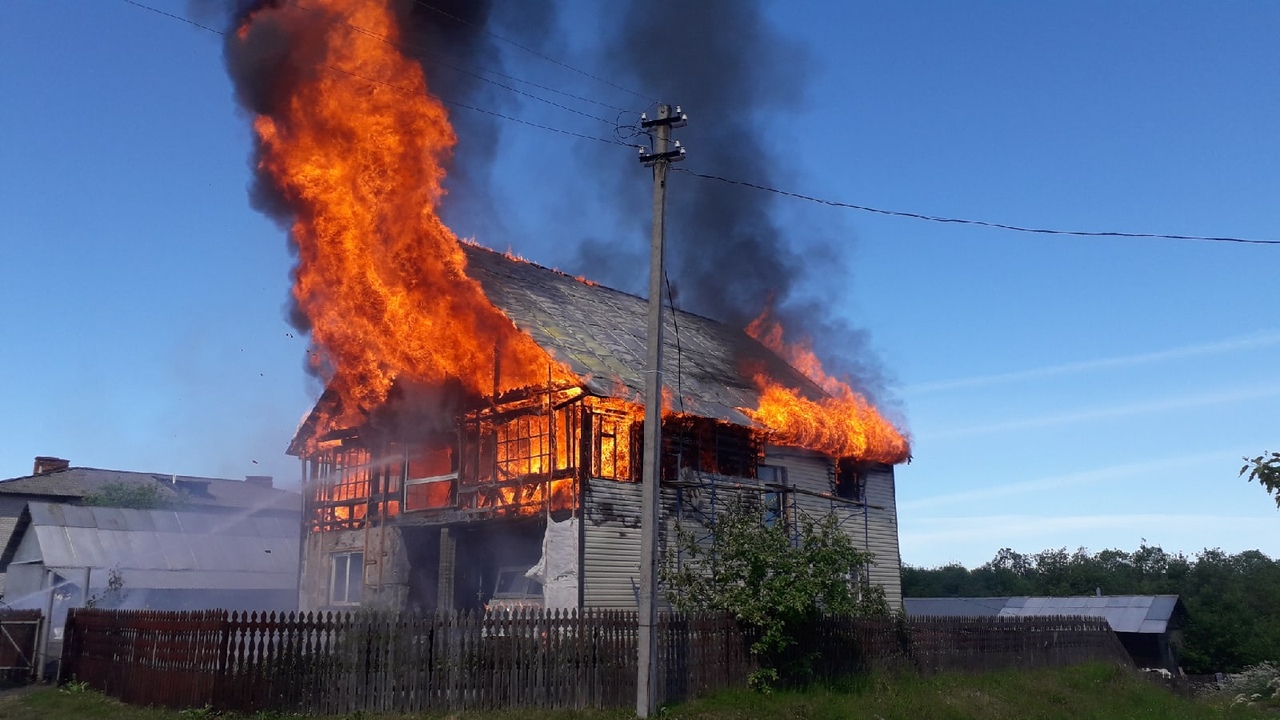
[[[644,386],[644,468],[640,514],[640,628],[636,657],[636,715],[648,717],[658,707],[658,484],[662,480],[662,282],[666,277],[662,256],[667,237],[663,219],[667,211],[667,167],[685,159],[677,141],[669,149],[671,128],[684,127],[687,118],[669,105],[658,106],[658,118],[640,115],[640,126],[657,129],[653,152],[640,149],[640,161],[653,168],[653,240],[649,250],[649,347]]]

